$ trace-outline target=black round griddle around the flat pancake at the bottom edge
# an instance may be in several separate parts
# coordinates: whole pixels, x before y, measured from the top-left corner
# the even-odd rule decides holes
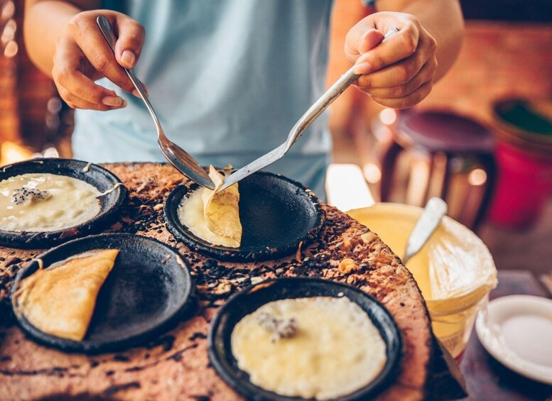
[[[242,318],[268,302],[288,298],[342,296],[357,303],[372,319],[386,344],[387,361],[381,373],[371,383],[338,400],[373,399],[387,385],[393,383],[399,373],[403,351],[401,332],[391,314],[377,300],[340,282],[317,278],[279,278],[266,280],[233,295],[220,308],[210,326],[207,346],[212,365],[229,385],[251,400],[303,400],[301,397],[278,395],[251,383],[249,375],[238,368],[232,355],[232,331]]]

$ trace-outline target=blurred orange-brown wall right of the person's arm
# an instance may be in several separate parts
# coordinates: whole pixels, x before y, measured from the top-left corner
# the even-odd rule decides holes
[[[552,97],[552,25],[468,21],[458,62],[420,106],[489,119],[494,99]]]

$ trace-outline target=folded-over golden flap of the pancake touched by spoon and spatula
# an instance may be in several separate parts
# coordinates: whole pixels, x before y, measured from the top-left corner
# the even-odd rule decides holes
[[[242,223],[239,221],[238,185],[232,185],[217,193],[224,176],[211,166],[209,177],[215,183],[215,190],[205,188],[202,193],[207,228],[213,233],[227,238],[227,246],[239,248],[242,241]]]

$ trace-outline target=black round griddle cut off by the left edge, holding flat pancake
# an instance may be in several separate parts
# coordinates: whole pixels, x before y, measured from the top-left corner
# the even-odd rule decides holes
[[[88,171],[83,171],[87,166]],[[117,175],[99,165],[89,165],[89,163],[80,160],[55,158],[33,159],[2,167],[0,169],[0,181],[15,175],[29,173],[66,175],[93,185],[99,192],[106,192],[117,183],[122,184]],[[58,231],[0,230],[0,245],[23,249],[46,248],[97,231],[117,216],[118,210],[126,200],[127,192],[126,187],[121,185],[113,192],[99,197],[99,213],[78,226]]]

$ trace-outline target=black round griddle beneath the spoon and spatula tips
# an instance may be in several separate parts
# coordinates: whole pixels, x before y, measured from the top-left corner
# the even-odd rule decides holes
[[[167,229],[178,241],[205,256],[229,262],[258,262],[297,251],[320,231],[324,218],[318,198],[300,183],[270,172],[256,172],[239,182],[239,248],[215,246],[195,236],[178,218],[178,207],[197,184],[180,185],[167,197]]]

